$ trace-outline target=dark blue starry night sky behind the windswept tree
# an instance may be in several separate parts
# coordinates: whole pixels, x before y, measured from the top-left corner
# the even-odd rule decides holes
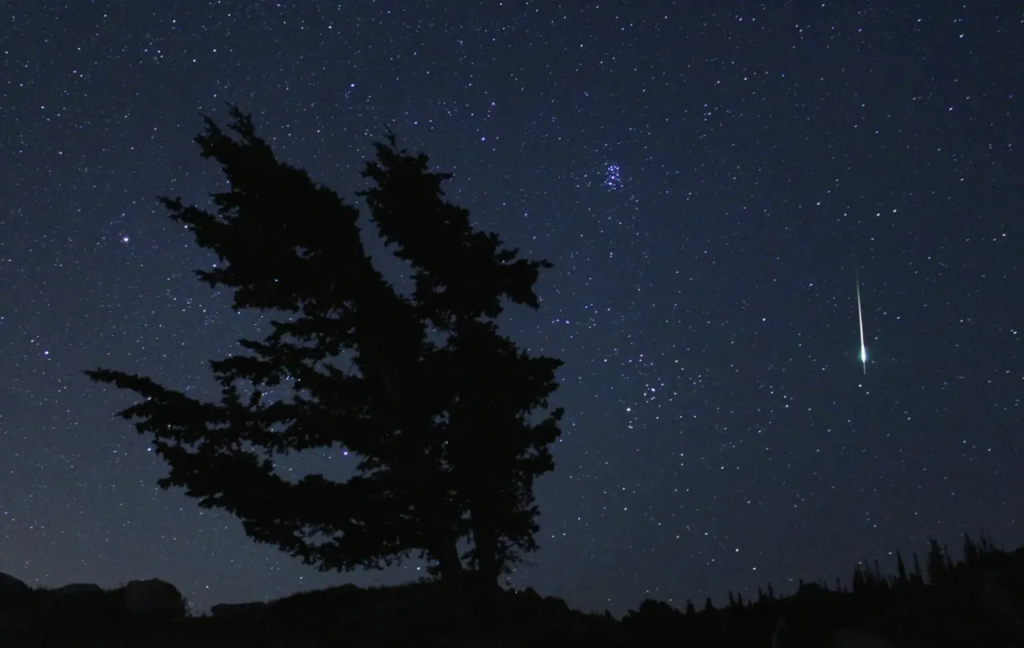
[[[256,337],[156,200],[223,190],[193,137],[225,101],[352,203],[390,126],[555,263],[502,319],[565,360],[515,586],[621,614],[1024,544],[1022,43],[1011,0],[6,0],[0,571],[198,609],[424,573],[322,574],[160,490],[134,394],[82,374],[217,399]]]

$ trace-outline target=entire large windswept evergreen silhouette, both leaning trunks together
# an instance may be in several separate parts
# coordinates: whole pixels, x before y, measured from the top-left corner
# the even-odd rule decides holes
[[[532,486],[554,468],[562,411],[547,412],[561,361],[519,350],[495,320],[503,300],[538,308],[534,285],[551,264],[472,230],[442,199],[451,176],[388,131],[362,172],[375,186],[358,195],[414,270],[403,296],[367,255],[358,210],[279,162],[251,117],[229,110],[234,136],[204,117],[196,138],[230,183],[212,195],[217,213],[160,200],[220,258],[199,278],[230,288],[236,310],[276,316],[271,333],[211,361],[219,403],[120,371],[86,375],[142,397],[119,416],[153,435],[170,468],[161,487],[233,514],[256,542],[322,570],[418,553],[442,580],[462,581],[468,567],[497,587],[537,549]],[[547,416],[532,423],[538,409]],[[358,458],[347,481],[274,470],[276,457],[338,447]]]

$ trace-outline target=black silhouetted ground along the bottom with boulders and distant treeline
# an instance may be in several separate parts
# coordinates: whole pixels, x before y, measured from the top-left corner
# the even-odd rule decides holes
[[[571,610],[532,590],[486,599],[431,582],[344,586],[217,606],[204,616],[132,612],[118,591],[33,590],[0,605],[0,646],[1024,648],[1024,549],[969,541],[965,554],[957,564],[930,556],[927,578],[920,568],[882,576],[858,567],[851,588],[803,584],[788,597],[769,589],[724,609],[706,603],[677,610],[647,600],[622,620]]]

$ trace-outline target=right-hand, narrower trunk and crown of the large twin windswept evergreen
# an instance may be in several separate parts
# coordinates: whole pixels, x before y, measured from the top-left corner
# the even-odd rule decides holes
[[[530,357],[498,335],[501,298],[539,307],[532,287],[548,261],[516,259],[498,234],[474,232],[469,212],[442,200],[451,174],[428,172],[429,159],[398,150],[393,134],[375,144],[377,160],[364,177],[376,186],[367,198],[386,243],[415,269],[415,303],[421,320],[451,334],[439,354],[440,374],[453,377],[444,459],[454,489],[469,512],[473,549],[467,558],[484,582],[493,582],[537,549],[532,486],[554,468],[547,447],[559,435],[562,411],[538,425],[525,416],[547,408],[561,361]],[[433,218],[417,218],[420,214]],[[481,433],[488,430],[490,433]]]

